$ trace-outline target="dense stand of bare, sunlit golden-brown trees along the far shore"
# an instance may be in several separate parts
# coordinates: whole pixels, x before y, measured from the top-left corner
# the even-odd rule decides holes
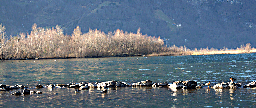
[[[122,30],[104,33],[89,29],[82,33],[77,26],[71,35],[65,35],[60,26],[37,27],[33,24],[30,34],[19,33],[7,39],[5,26],[0,24],[0,58],[58,58],[116,56],[122,54],[150,54],[162,52],[165,47],[160,37]]]

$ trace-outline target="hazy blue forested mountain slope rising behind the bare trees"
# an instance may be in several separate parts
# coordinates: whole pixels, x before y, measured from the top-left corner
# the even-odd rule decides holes
[[[169,38],[168,45],[188,48],[256,47],[255,0],[10,0],[0,1],[0,23],[8,35],[31,26],[60,25],[71,34],[121,29]],[[181,23],[174,27],[172,23]]]

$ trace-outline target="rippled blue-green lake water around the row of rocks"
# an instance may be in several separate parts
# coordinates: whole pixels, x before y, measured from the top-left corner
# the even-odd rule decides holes
[[[72,82],[151,80],[153,83],[192,80],[211,86],[256,81],[256,54],[111,57],[0,61],[0,84],[29,87]],[[255,88],[171,89],[168,87],[118,87],[107,93],[91,88],[29,88],[43,94],[18,95],[22,89],[0,91],[0,107],[256,107]],[[55,93],[58,93],[55,95]]]

